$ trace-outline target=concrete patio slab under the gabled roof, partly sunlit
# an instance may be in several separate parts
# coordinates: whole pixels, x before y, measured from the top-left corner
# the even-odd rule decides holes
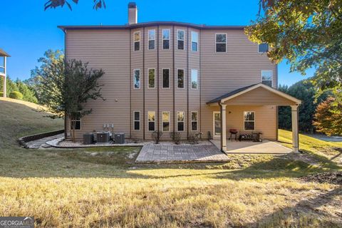
[[[217,148],[220,147],[219,140],[211,140]],[[227,153],[248,153],[248,154],[287,154],[292,152],[279,142],[264,140],[263,142],[251,141],[229,141],[227,140]]]

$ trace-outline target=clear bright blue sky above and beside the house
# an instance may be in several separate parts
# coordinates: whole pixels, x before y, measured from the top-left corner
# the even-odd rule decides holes
[[[127,23],[129,1],[105,0],[107,9],[93,10],[93,0],[79,0],[73,11],[67,7],[43,10],[47,0],[1,2],[0,48],[11,55],[11,78],[26,79],[37,59],[48,49],[63,49],[63,32],[58,25],[110,25]],[[248,25],[256,18],[259,0],[240,1],[136,1],[138,22],[182,21],[207,25]],[[307,72],[312,76],[314,71]],[[306,78],[305,77],[305,78]],[[289,73],[285,61],[279,64],[279,83],[291,85],[303,79]]]

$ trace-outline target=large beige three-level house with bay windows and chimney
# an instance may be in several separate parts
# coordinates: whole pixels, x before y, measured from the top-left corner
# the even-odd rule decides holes
[[[77,138],[113,124],[115,132],[142,140],[154,131],[164,140],[172,132],[182,139],[202,132],[202,138],[220,138],[225,151],[232,128],[277,140],[277,105],[291,105],[298,150],[301,101],[276,90],[269,46],[249,41],[244,26],[138,23],[137,6],[130,3],[128,24],[58,27],[66,58],[105,71],[100,83],[106,100],[86,104],[93,113],[76,120]]]

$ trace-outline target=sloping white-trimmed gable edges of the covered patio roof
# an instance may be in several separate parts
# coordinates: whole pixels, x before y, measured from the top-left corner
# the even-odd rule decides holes
[[[213,103],[220,103],[220,102],[224,102],[226,100],[229,100],[229,99],[232,99],[232,98],[235,98],[237,97],[238,95],[242,95],[244,93],[247,93],[251,90],[254,90],[256,88],[265,88],[266,90],[269,90],[271,91],[272,93],[276,93],[277,95],[280,95],[281,97],[283,98],[286,98],[288,100],[291,100],[293,101],[294,103],[297,103],[297,104],[301,104],[301,100],[297,99],[297,98],[294,98],[293,96],[291,95],[288,95],[286,93],[283,93],[279,90],[276,90],[275,88],[272,88],[270,86],[266,86],[265,84],[263,83],[257,83],[257,84],[253,84],[251,86],[246,86],[246,87],[243,87],[243,88],[238,88],[237,90],[233,90],[232,92],[229,92],[229,93],[226,93],[222,96],[219,96],[218,98],[214,98],[213,100],[209,100],[207,102],[207,105],[209,104],[213,104]]]

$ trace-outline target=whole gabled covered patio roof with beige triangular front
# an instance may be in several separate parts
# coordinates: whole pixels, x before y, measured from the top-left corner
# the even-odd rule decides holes
[[[238,88],[214,98],[207,105],[299,105],[301,100],[263,83]]]

